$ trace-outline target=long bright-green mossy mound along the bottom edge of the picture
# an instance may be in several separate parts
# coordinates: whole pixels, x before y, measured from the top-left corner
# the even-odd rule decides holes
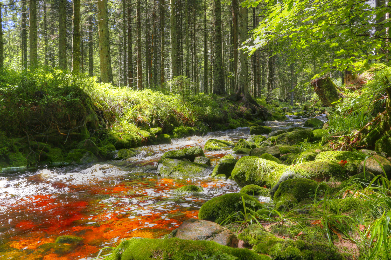
[[[132,238],[122,241],[113,252],[113,260],[194,260],[192,254],[210,257],[228,254],[237,260],[270,260],[249,249],[222,246],[213,241],[192,241],[178,238],[148,239]],[[190,254],[190,255],[188,255]]]

